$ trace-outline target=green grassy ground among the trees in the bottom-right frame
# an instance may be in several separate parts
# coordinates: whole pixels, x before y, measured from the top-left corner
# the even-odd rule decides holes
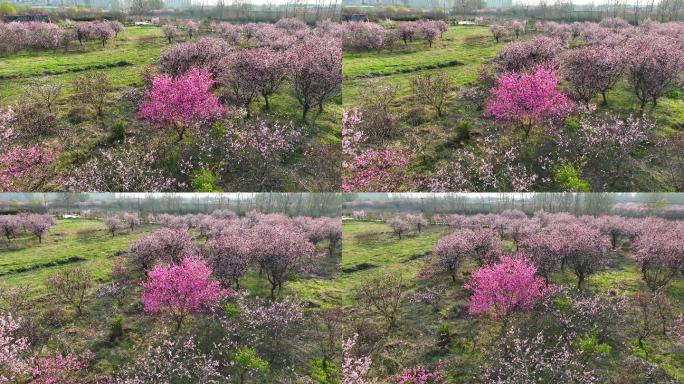
[[[424,284],[415,279],[416,273],[424,265],[423,256],[432,249],[439,237],[449,233],[449,229],[431,226],[422,234],[408,235],[400,240],[384,223],[345,221],[343,233],[343,270],[359,266],[366,268],[343,273],[343,278],[349,280],[350,286],[372,275],[396,271],[402,274],[410,294]],[[505,241],[504,247],[512,248],[513,244]],[[389,345],[391,352],[381,348],[373,355],[376,374],[390,372],[392,367],[430,365],[444,359],[450,363],[450,374],[456,382],[473,379],[473,374],[481,366],[481,347],[498,332],[495,323],[467,315],[468,293],[463,289],[463,284],[468,271],[475,267],[473,264],[462,267],[455,283],[444,278],[440,286],[446,286],[447,290],[439,311],[433,312],[427,305],[402,304],[398,325],[385,335],[384,343]],[[553,275],[551,281],[571,287],[576,284],[576,278],[570,271]],[[591,275],[587,280],[587,290],[590,292],[604,292],[609,289],[618,289],[626,294],[647,290],[636,264],[624,251],[611,266]],[[672,300],[675,312],[682,311],[684,279],[676,278],[666,293]],[[358,307],[353,311],[358,316],[364,316],[365,313],[363,308]],[[454,338],[453,345],[446,352],[435,347],[438,327],[445,323],[449,324]],[[681,381],[684,380],[684,356],[681,351],[672,353],[668,346],[673,343],[673,336],[652,338],[645,358]],[[644,357],[638,349],[633,353]]]

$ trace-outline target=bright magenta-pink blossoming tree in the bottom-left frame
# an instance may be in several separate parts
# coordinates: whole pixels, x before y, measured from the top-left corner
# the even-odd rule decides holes
[[[142,283],[145,312],[168,316],[180,329],[190,314],[210,309],[228,294],[210,275],[206,263],[194,256],[185,257],[180,265],[153,268]]]

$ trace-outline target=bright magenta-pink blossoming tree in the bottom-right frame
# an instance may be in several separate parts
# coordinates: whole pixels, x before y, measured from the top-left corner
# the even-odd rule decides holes
[[[513,312],[531,309],[544,294],[544,281],[536,272],[524,258],[508,256],[499,264],[478,269],[464,286],[473,292],[468,312],[488,313],[505,322]]]

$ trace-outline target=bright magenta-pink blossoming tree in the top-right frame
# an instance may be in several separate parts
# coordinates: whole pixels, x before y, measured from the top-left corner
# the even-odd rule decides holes
[[[556,71],[535,67],[531,73],[510,73],[499,78],[487,101],[487,113],[497,122],[525,132],[525,138],[535,125],[563,119],[572,113],[575,104],[558,91],[560,78]]]

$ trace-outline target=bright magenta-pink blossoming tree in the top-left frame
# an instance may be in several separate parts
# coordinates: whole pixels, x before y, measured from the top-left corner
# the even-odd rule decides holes
[[[225,112],[211,93],[214,81],[207,70],[193,68],[172,78],[152,79],[152,87],[140,102],[140,117],[160,128],[171,129],[183,140],[186,131],[218,119]]]

